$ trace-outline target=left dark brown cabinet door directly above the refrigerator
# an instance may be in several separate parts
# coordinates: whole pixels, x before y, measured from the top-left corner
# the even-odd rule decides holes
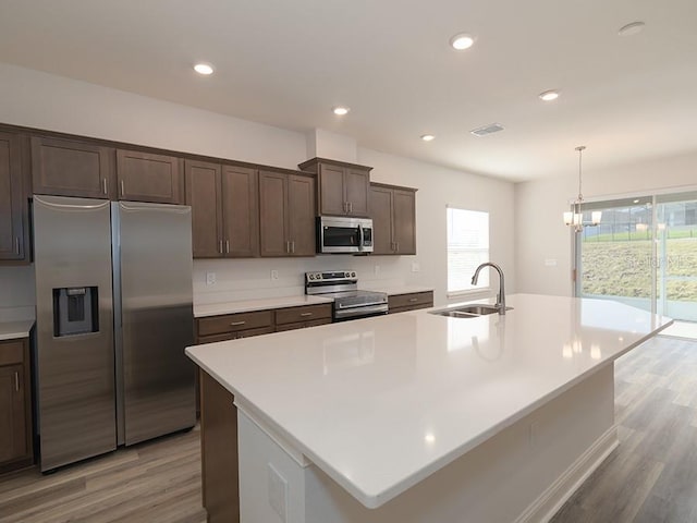
[[[110,198],[114,149],[62,138],[32,138],[35,194]]]

